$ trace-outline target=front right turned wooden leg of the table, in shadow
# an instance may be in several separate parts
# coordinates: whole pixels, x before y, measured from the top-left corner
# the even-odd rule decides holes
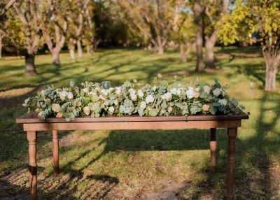
[[[237,128],[228,128],[228,169],[227,169],[227,194],[226,199],[233,199],[235,185],[235,140]]]

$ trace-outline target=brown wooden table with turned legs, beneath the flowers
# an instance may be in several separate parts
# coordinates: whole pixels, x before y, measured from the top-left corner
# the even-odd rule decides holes
[[[235,183],[235,139],[237,127],[248,115],[193,115],[193,116],[159,116],[159,117],[78,117],[73,122],[64,118],[49,117],[45,120],[36,113],[27,113],[16,119],[27,131],[29,144],[29,184],[31,199],[36,199],[37,164],[36,164],[36,131],[52,131],[52,152],[54,173],[59,173],[59,130],[101,130],[101,129],[210,129],[211,171],[216,167],[216,129],[228,129],[228,168],[226,199],[233,199]]]

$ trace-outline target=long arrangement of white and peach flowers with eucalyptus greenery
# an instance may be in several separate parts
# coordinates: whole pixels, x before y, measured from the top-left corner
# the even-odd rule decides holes
[[[78,87],[70,82],[69,87],[48,86],[29,97],[23,103],[28,110],[35,110],[43,120],[46,117],[65,117],[67,121],[76,117],[101,117],[105,115],[195,115],[195,114],[239,114],[244,106],[230,99],[218,80],[214,85],[200,84],[195,80],[187,86],[176,77],[169,85],[161,74],[153,85],[141,84],[137,80],[125,81],[123,85],[111,87],[104,83],[81,83]]]

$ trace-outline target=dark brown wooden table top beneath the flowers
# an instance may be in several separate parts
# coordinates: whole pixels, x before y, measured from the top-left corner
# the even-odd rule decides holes
[[[221,121],[221,120],[244,120],[248,119],[246,113],[239,115],[188,115],[188,116],[144,116],[139,115],[125,115],[121,117],[108,115],[105,117],[77,117],[75,122],[178,122],[178,121]],[[38,117],[36,112],[26,113],[15,120],[17,123],[65,123],[65,118],[48,117],[42,120]]]

